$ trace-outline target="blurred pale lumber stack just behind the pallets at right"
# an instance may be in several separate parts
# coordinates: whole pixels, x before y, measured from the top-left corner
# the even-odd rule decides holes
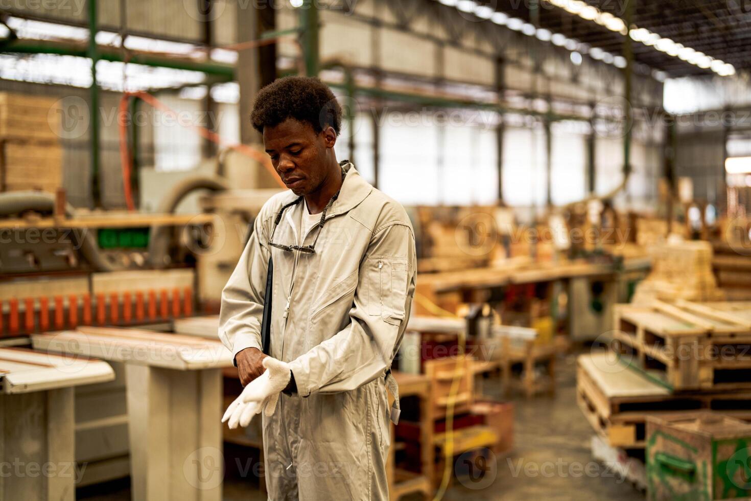
[[[636,288],[634,302],[652,299],[722,300],[712,271],[712,246],[704,241],[665,243],[650,248],[652,273]]]

